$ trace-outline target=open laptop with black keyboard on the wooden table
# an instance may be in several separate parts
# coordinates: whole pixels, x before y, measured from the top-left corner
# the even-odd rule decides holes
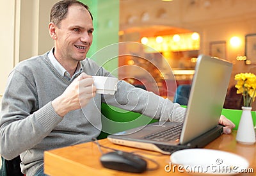
[[[196,61],[183,123],[155,122],[110,134],[108,140],[162,154],[204,147],[223,134],[223,126],[218,122],[231,72],[232,63],[201,54]]]

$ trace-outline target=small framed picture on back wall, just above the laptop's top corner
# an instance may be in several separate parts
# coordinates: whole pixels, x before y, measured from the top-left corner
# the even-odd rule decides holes
[[[210,56],[226,59],[226,41],[210,42]]]

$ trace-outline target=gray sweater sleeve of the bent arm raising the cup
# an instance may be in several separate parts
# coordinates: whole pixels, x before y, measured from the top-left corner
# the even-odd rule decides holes
[[[36,86],[17,70],[8,77],[0,113],[0,152],[6,159],[40,143],[62,118],[51,102],[38,108]]]

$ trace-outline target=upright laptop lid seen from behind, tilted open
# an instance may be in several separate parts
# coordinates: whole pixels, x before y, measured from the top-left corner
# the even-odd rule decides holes
[[[180,143],[186,143],[218,125],[231,72],[232,63],[228,61],[198,56]]]

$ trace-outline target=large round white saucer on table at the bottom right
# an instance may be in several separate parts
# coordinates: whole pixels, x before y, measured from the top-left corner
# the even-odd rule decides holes
[[[173,152],[170,159],[183,172],[194,175],[235,175],[249,166],[249,162],[237,154],[205,148],[179,150]]]

